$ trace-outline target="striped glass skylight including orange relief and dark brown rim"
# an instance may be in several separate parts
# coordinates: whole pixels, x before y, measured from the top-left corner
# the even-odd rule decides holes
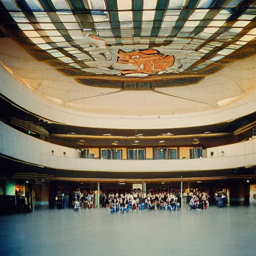
[[[0,0],[4,33],[92,86],[199,81],[255,52],[254,0]]]

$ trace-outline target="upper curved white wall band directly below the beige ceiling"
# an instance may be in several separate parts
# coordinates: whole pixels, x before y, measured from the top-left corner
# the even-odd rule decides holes
[[[254,112],[256,109],[256,89],[254,89],[234,105],[203,112],[159,116],[91,113],[51,103],[22,84],[2,65],[0,65],[0,77],[0,92],[8,99],[39,116],[68,125],[124,129],[191,127],[231,120]]]

